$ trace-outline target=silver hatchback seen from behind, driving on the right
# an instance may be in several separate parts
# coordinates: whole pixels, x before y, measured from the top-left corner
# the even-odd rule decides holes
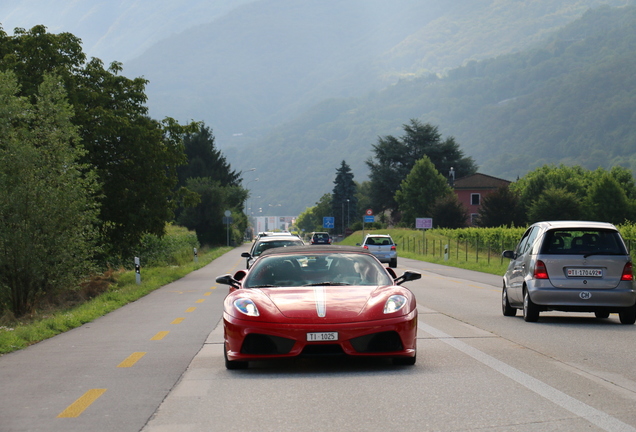
[[[503,277],[503,314],[523,310],[526,321],[542,311],[618,313],[636,321],[632,259],[616,227],[604,222],[537,222],[514,251]]]

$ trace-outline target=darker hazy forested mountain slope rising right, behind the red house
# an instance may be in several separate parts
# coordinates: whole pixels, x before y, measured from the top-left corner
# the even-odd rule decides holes
[[[401,136],[410,118],[438,125],[481,172],[510,180],[546,163],[634,170],[635,28],[636,6],[591,10],[536,48],[324,101],[233,159],[275,164],[276,187],[259,182],[253,193],[294,210],[333,189],[343,159],[366,179],[371,145]]]

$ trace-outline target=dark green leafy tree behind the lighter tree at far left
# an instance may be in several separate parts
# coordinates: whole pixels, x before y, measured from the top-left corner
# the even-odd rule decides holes
[[[162,235],[174,218],[176,167],[184,163],[181,139],[188,127],[148,117],[143,78],[120,76],[120,63],[104,69],[85,63],[81,41],[46,27],[0,32],[0,70],[15,72],[20,95],[30,100],[46,73],[60,76],[72,104],[81,162],[94,169],[101,190],[99,228],[107,254],[128,258],[145,233]]]

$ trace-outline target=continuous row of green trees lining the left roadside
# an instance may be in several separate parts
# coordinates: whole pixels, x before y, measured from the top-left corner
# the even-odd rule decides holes
[[[121,70],[70,33],[0,28],[0,312],[132,264],[175,220],[223,244],[231,210],[242,238],[247,193],[211,131],[150,118],[146,80]]]

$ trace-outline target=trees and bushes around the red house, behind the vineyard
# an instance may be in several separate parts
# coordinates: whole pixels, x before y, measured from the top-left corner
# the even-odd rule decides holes
[[[454,139],[442,140],[431,124],[412,119],[403,127],[402,137],[380,137],[373,145],[375,157],[367,161],[369,181],[355,183],[351,169],[342,161],[333,192],[299,216],[299,229],[322,230],[322,218],[331,216],[335,221],[332,232],[345,234],[346,228],[362,228],[366,209],[372,209],[379,219],[367,225],[372,228],[412,228],[416,218],[429,217],[436,228],[466,227],[468,209],[442,173],[452,167],[458,178],[469,176],[477,170],[474,161],[464,156]],[[357,208],[347,208],[345,213],[345,202],[357,202]],[[523,227],[541,220],[634,222],[634,178],[620,166],[591,171],[581,166],[544,165],[485,195],[477,224]]]

